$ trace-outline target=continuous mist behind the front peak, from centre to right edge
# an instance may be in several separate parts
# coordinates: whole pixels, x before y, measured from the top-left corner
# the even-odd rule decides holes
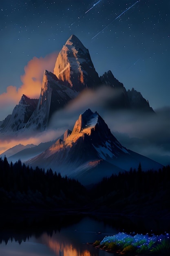
[[[117,93],[104,87],[85,90],[53,115],[51,127],[72,130],[79,115],[91,108],[104,119],[122,146],[163,165],[170,164],[170,107],[157,109],[156,114],[108,109],[106,103]]]

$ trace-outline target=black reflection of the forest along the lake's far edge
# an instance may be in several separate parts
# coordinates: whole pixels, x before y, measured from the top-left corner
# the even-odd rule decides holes
[[[103,221],[106,224],[117,227],[120,231],[127,233],[154,233],[162,234],[170,232],[169,216],[139,216],[135,214],[112,213],[102,211],[91,211],[86,207],[79,208],[29,208],[15,207],[13,209],[1,209],[0,212],[0,228],[1,229],[22,229],[24,228],[55,228],[58,224],[77,222],[82,218],[93,218],[99,222]],[[2,221],[3,220],[3,221]],[[56,221],[57,220],[57,221]],[[60,220],[60,221],[59,221]],[[59,223],[58,223],[59,222]]]

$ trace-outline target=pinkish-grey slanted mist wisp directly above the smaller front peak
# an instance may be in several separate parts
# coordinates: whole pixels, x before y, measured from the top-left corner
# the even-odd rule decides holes
[[[114,99],[119,94],[119,90],[115,92],[109,87],[101,86],[98,90],[86,89],[81,92],[75,99],[67,104],[67,106],[55,112],[51,119],[50,128],[72,129],[79,115],[86,109],[90,108],[93,112],[97,111],[99,115],[108,112],[105,107],[110,99]]]

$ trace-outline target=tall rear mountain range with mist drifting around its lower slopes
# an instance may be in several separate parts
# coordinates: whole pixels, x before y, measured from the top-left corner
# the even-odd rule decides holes
[[[18,144],[55,140],[72,130],[77,116],[90,108],[102,115],[127,148],[169,164],[170,110],[155,115],[134,88],[126,91],[110,70],[99,77],[88,49],[72,35],[58,54],[54,71],[44,71],[39,99],[23,95],[12,114],[0,121],[0,153]]]

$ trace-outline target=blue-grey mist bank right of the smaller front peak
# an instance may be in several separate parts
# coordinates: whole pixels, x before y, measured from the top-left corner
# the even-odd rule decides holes
[[[170,164],[170,108],[155,110],[155,115],[115,112],[108,126],[126,148],[163,165]],[[116,120],[116,121],[114,121]]]

